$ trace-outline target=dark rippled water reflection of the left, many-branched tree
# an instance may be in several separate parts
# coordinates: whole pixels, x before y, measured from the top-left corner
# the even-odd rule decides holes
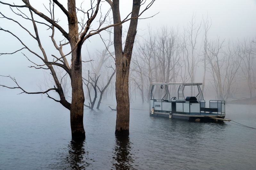
[[[84,156],[88,155],[84,147],[85,140],[71,140],[69,145],[69,156],[66,160],[70,167],[67,169],[85,169],[89,166]]]

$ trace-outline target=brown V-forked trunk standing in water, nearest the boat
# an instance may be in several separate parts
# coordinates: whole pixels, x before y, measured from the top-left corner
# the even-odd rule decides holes
[[[139,14],[140,0],[133,0],[131,17]],[[114,24],[121,22],[119,0],[113,0],[112,4]],[[116,56],[116,101],[117,118],[116,131],[118,136],[129,135],[130,102],[129,102],[129,69],[136,36],[138,19],[132,19],[127,33],[124,51],[122,50],[122,25],[114,27],[114,47]]]

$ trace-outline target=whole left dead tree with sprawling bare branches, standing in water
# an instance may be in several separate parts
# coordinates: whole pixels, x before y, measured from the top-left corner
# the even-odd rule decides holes
[[[30,0],[32,1],[32,0]],[[0,31],[4,31],[7,34],[12,35],[14,38],[16,38],[21,44],[22,48],[16,50],[15,52],[12,53],[1,53],[1,54],[13,54],[16,52],[19,52],[23,49],[28,50],[32,55],[36,56],[37,59],[40,59],[42,63],[36,64],[32,60],[30,60],[30,56],[27,58],[29,61],[31,61],[35,66],[31,66],[36,69],[48,69],[53,76],[54,79],[54,86],[52,88],[49,88],[48,90],[44,92],[35,92],[35,93],[29,93],[25,91],[23,88],[21,88],[16,80],[12,77],[10,77],[17,87],[14,88],[20,88],[23,92],[22,93],[28,93],[28,94],[38,94],[38,93],[47,93],[49,91],[56,91],[59,94],[60,99],[54,99],[53,97],[49,98],[53,99],[54,101],[60,102],[65,108],[70,110],[70,125],[71,125],[71,134],[72,138],[85,138],[85,130],[84,130],[84,125],[83,125],[83,112],[84,112],[84,101],[85,101],[85,96],[84,96],[84,90],[83,90],[83,83],[82,83],[82,60],[81,60],[81,49],[82,45],[84,42],[91,36],[100,34],[101,31],[106,30],[110,27],[116,26],[116,27],[121,27],[121,24],[128,21],[128,20],[137,20],[138,15],[134,15],[135,8],[133,9],[132,13],[132,18],[129,18],[128,16],[124,20],[115,20],[114,24],[112,25],[107,25],[103,27],[106,17],[108,16],[110,10],[106,11],[106,15],[102,15],[102,11],[100,9],[101,6],[101,0],[91,0],[88,2],[88,8],[84,10],[81,7],[76,6],[76,0],[68,0],[67,1],[67,9],[58,1],[58,0],[50,0],[49,1],[49,8],[47,11],[49,12],[47,15],[45,15],[42,12],[39,12],[37,9],[35,9],[28,0],[22,0],[22,5],[14,5],[14,3],[8,4],[0,1],[2,7],[7,6],[8,8],[11,8],[11,12],[16,14],[18,17],[23,18],[24,20],[31,21],[31,25],[33,28],[34,33],[31,33],[29,30],[30,28],[25,28],[29,27],[29,25],[22,26],[22,23],[20,23],[17,20],[13,20],[11,18],[8,18],[5,16],[2,12],[0,13],[2,17],[10,22],[13,22],[15,24],[19,25],[19,28],[21,29],[16,29],[16,30],[23,30],[25,31],[29,37],[32,40],[35,40],[37,43],[40,53],[36,53],[36,49],[30,49],[28,45],[25,44],[25,41],[22,41],[22,38],[19,38],[13,31],[9,31],[7,29],[3,28],[3,22],[1,22],[1,27]],[[38,2],[38,1],[37,1]],[[118,2],[119,3],[119,2]],[[117,3],[114,1],[113,5],[111,6],[114,8],[113,16],[115,18],[119,17],[120,14],[119,12],[117,13],[116,10],[119,11],[119,6],[116,5]],[[137,3],[135,3],[137,4]],[[66,23],[63,25],[66,26],[68,25],[67,28],[62,27],[59,23],[59,20],[55,18],[56,12],[55,12],[55,6],[63,12],[62,15],[65,17]],[[140,6],[140,3],[138,4]],[[15,10],[12,9],[12,7],[16,8]],[[137,8],[138,6],[136,6]],[[21,11],[23,10],[24,11]],[[25,11],[28,10],[28,11]],[[99,12],[100,11],[100,12]],[[27,13],[27,14],[25,14]],[[29,15],[28,15],[29,14]],[[34,15],[37,15],[35,18]],[[78,21],[78,18],[81,17],[81,20]],[[92,25],[95,21],[95,18],[99,19],[98,25],[96,28],[92,28]],[[37,20],[38,19],[38,20]],[[2,20],[2,19],[1,19]],[[131,21],[131,23],[134,23],[134,21]],[[46,27],[47,30],[51,30],[51,43],[53,43],[53,47],[57,49],[59,56],[55,55],[50,55],[45,52],[45,49],[48,48],[43,48],[43,43],[41,42],[42,39],[40,39],[39,35],[42,35],[41,29],[38,29],[37,26],[41,25],[43,27]],[[134,24],[132,24],[134,25]],[[56,30],[55,30],[56,29]],[[39,33],[40,31],[40,33]],[[65,42],[60,41],[60,44],[58,45],[55,38],[54,34],[55,31],[57,31],[58,34],[62,35],[62,39],[67,40]],[[19,33],[18,33],[19,34]],[[34,35],[33,35],[34,34]],[[129,34],[130,35],[130,34]],[[134,35],[134,32],[132,32],[132,35]],[[130,36],[128,36],[130,38]],[[31,43],[33,44],[33,43]],[[49,43],[48,43],[49,44]],[[68,50],[70,50],[69,53],[64,54],[62,51],[62,48],[64,46],[69,46]],[[37,47],[35,47],[37,48]],[[3,49],[1,49],[2,51]],[[71,65],[67,60],[67,57],[71,54]],[[25,54],[24,54],[25,55]],[[70,77],[71,80],[71,87],[72,87],[72,101],[71,103],[68,102],[65,98],[65,95],[63,93],[63,89],[61,86],[60,81],[58,80],[58,77],[56,75],[56,70],[54,70],[54,67],[58,66],[64,69],[67,74]],[[6,86],[5,86],[6,87]]]

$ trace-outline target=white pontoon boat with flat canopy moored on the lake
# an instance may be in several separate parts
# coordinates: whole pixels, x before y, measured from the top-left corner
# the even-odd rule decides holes
[[[166,94],[162,99],[154,99],[153,89],[155,85],[160,85],[161,89],[165,86]],[[168,85],[179,85],[178,99],[176,96],[171,98]],[[191,85],[196,85],[199,93],[195,97],[188,96],[185,98],[184,87]],[[202,83],[152,83],[150,116],[186,119],[189,121],[228,120],[225,119],[225,101],[210,100],[209,107],[205,107],[200,85]]]

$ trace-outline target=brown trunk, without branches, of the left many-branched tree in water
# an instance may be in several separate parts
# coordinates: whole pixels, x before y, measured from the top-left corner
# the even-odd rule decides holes
[[[83,125],[84,117],[84,90],[82,83],[82,60],[81,60],[81,45],[75,47],[78,42],[78,19],[76,15],[76,1],[68,1],[68,12],[70,13],[69,35],[71,38],[70,46],[74,49],[71,53],[71,87],[72,87],[72,102],[70,106],[70,125],[72,138],[85,138],[85,130]]]

